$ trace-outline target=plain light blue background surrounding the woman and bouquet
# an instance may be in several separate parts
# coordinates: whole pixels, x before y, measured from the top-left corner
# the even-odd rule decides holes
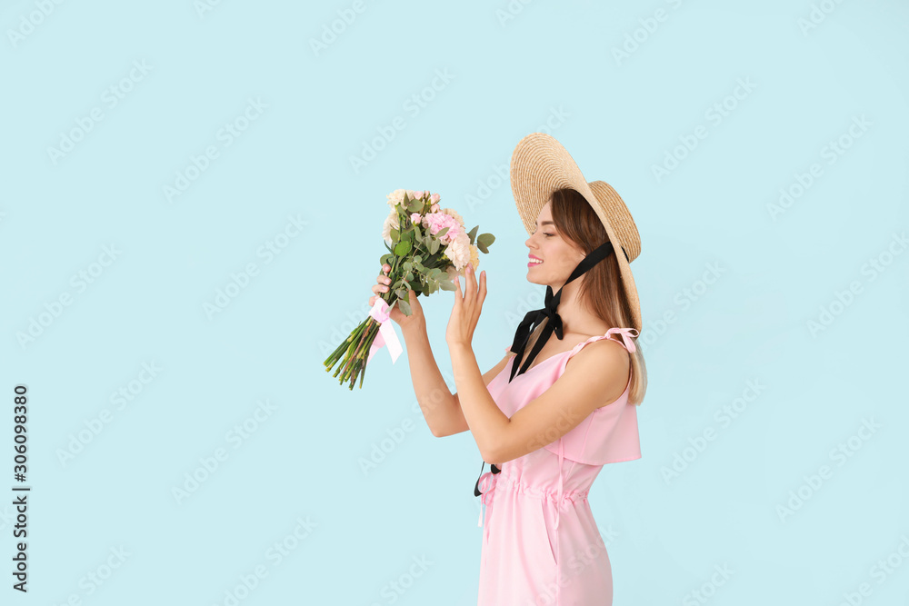
[[[385,194],[399,187],[439,192],[495,234],[474,351],[484,371],[500,359],[544,289],[526,281],[527,234],[497,173],[542,130],[624,197],[643,243],[644,456],[606,466],[590,497],[613,537],[614,603],[694,604],[703,591],[711,604],[838,604],[862,583],[862,603],[906,603],[909,254],[887,254],[909,225],[909,7],[822,4],[806,30],[820,5],[783,0],[5,3],[0,484],[14,483],[13,386],[25,383],[33,488],[27,596],[10,589],[13,510],[0,506],[0,601],[225,604],[260,566],[239,603],[475,603],[470,433],[432,437],[405,356],[377,355],[353,392],[322,362],[365,318]],[[339,11],[355,19],[314,50]],[[111,106],[105,90],[134,62],[150,71]],[[754,89],[727,98],[740,79]],[[266,107],[226,145],[219,129],[250,99]],[[707,112],[724,101],[734,109],[716,124]],[[103,119],[55,162],[48,148],[93,108]],[[870,125],[830,164],[826,146],[856,116]],[[706,137],[655,177],[699,125]],[[207,146],[217,157],[169,201],[165,185]],[[772,216],[812,164],[820,176]],[[289,217],[305,228],[260,255]],[[889,263],[874,279],[873,258]],[[209,317],[247,263],[257,274]],[[702,282],[712,266],[719,277]],[[84,290],[71,282],[95,270]],[[425,302],[450,382],[452,301]],[[833,322],[813,333],[822,308]],[[658,322],[665,313],[673,322]],[[144,363],[161,369],[146,384]],[[749,381],[764,387],[722,422]],[[111,394],[131,382],[119,409]],[[266,400],[274,410],[235,448],[228,432]],[[110,422],[62,462],[105,409]],[[855,437],[870,419],[880,427]],[[395,430],[403,439],[364,472]],[[685,451],[710,430],[703,452]],[[852,456],[831,456],[850,439]],[[178,502],[173,489],[219,448],[226,460]],[[690,462],[667,481],[677,454]],[[823,465],[813,489],[805,478]],[[799,491],[804,504],[781,515]],[[294,549],[277,561],[281,541]],[[100,586],[88,581],[120,548]],[[406,587],[394,601],[393,583]]]

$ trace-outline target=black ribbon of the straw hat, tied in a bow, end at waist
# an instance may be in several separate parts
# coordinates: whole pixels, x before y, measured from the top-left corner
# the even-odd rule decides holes
[[[584,257],[581,263],[577,264],[577,267],[575,267],[571,275],[568,276],[565,284],[571,282],[574,280],[574,278],[587,273],[591,267],[593,267],[596,263],[603,261],[606,257],[613,253],[613,251],[614,247],[613,243],[611,242],[604,242],[600,246],[594,248],[590,254]],[[624,246],[622,247],[622,252],[625,255],[625,259],[628,260],[628,263],[631,263],[631,259],[628,258],[628,252],[624,249]],[[562,285],[562,288],[564,288],[564,284]],[[560,341],[562,340],[562,318],[559,316],[558,312],[556,312],[556,309],[559,306],[559,301],[562,299],[562,288],[559,288],[558,293],[553,294],[553,287],[547,285],[544,308],[534,310],[532,312],[527,312],[527,314],[524,315],[524,320],[518,324],[517,331],[514,333],[514,343],[512,343],[511,347],[511,351],[517,355],[514,357],[514,364],[512,365],[512,372],[511,376],[508,377],[508,382],[511,382],[511,380],[514,379],[514,373],[517,370],[517,363],[524,355],[524,348],[527,346],[527,340],[530,338],[530,333],[534,331],[534,328],[536,328],[536,326],[543,322],[544,318],[549,318],[549,322],[547,322],[543,327],[543,333],[540,334],[540,338],[536,340],[536,343],[534,343],[534,349],[531,350],[530,355],[527,357],[526,362],[524,362],[524,365],[521,367],[521,371],[518,374],[525,373],[527,371],[527,368],[530,367],[530,364],[534,362],[536,354],[540,353],[540,350],[543,349],[544,344],[549,339],[550,335],[552,335],[552,333],[555,333],[555,336],[558,337]],[[483,477],[483,469],[485,464],[486,462],[484,461],[483,465],[480,466],[480,476],[476,479],[476,483],[474,484],[474,497],[478,497],[483,494],[483,492],[480,491],[480,478]],[[502,471],[495,463],[490,463],[489,466],[490,469],[492,469],[493,473]]]

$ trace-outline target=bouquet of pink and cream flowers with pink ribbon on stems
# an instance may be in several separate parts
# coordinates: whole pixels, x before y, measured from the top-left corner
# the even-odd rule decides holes
[[[475,271],[479,252],[489,253],[488,247],[495,241],[492,233],[477,236],[479,225],[465,232],[461,215],[439,206],[439,194],[396,189],[386,197],[391,213],[385,219],[382,237],[388,253],[379,262],[391,266],[388,292],[376,298],[369,316],[325,360],[326,372],[340,362],[334,376],[340,373],[341,384],[350,382],[351,390],[357,377],[363,387],[366,363],[383,345],[387,343],[392,363],[402,352],[389,310],[397,305],[410,315],[411,290],[417,295],[439,289],[454,291],[454,276],[464,275],[467,263]]]

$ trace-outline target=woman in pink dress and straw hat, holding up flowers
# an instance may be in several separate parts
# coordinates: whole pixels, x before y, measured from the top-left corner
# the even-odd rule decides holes
[[[517,145],[511,179],[530,234],[527,279],[546,285],[546,306],[526,315],[504,358],[481,375],[471,342],[485,272],[477,283],[469,264],[464,294],[455,279],[445,333],[457,392],[435,363],[413,291],[414,313],[393,309],[391,318],[433,435],[469,430],[484,462],[499,462],[481,467],[474,487],[486,506],[478,604],[611,604],[611,566],[587,493],[604,464],[641,457],[636,405],[646,372],[629,267],[640,238],[613,188],[588,184],[549,135]],[[382,269],[376,296],[388,289]]]

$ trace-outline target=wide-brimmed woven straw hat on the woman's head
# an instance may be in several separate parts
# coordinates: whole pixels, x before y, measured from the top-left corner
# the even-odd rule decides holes
[[[570,187],[584,196],[603,223],[609,241],[624,249],[624,254],[616,250],[615,258],[634,328],[640,332],[643,329],[641,302],[629,263],[641,253],[641,236],[627,206],[612,186],[603,181],[587,183],[565,148],[544,133],[528,134],[514,148],[511,185],[517,212],[528,234],[534,233],[540,210],[550,201],[554,191]]]

